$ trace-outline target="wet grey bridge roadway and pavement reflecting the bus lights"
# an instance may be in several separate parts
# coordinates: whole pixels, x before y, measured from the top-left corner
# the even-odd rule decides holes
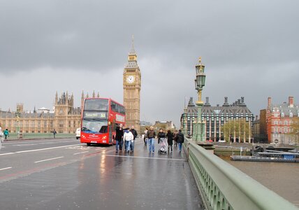
[[[203,209],[184,153],[133,154],[76,139],[6,141],[0,209]]]

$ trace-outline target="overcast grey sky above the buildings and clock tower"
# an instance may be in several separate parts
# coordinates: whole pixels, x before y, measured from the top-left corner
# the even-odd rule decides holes
[[[299,1],[0,0],[2,110],[52,108],[56,91],[123,101],[122,73],[135,37],[142,72],[140,120],[173,120],[196,97],[244,96],[254,115],[267,98],[299,104]],[[195,99],[194,99],[195,101]]]

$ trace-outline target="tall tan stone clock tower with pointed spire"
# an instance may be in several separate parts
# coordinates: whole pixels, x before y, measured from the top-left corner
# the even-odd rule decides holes
[[[141,72],[137,64],[137,54],[132,37],[128,64],[124,67],[124,107],[126,109],[126,127],[134,125],[138,134],[140,134],[140,87]]]

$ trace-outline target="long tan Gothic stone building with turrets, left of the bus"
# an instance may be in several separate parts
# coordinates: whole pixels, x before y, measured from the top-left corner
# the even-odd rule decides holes
[[[17,104],[17,111],[0,111],[0,125],[9,132],[50,133],[55,129],[58,133],[72,134],[81,125],[84,99],[82,92],[81,107],[74,108],[73,94],[64,92],[58,97],[56,92],[53,111],[42,107],[37,111],[34,108],[33,112],[27,112],[24,111],[23,104]]]

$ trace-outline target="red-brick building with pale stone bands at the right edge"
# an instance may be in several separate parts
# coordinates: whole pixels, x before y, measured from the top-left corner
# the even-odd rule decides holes
[[[272,104],[271,97],[268,97],[268,106],[266,111],[266,123],[268,143],[291,144],[293,138],[291,132],[291,123],[294,118],[298,118],[298,104],[294,104],[294,98],[289,97],[289,102],[282,104]]]

